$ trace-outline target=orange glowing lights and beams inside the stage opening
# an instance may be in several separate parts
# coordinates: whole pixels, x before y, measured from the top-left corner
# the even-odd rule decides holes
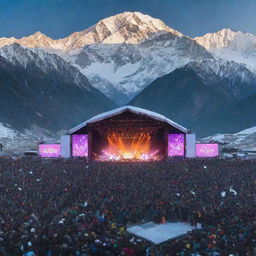
[[[148,133],[110,134],[107,137],[108,147],[103,150],[108,160],[149,160],[157,153],[151,153],[151,136]]]

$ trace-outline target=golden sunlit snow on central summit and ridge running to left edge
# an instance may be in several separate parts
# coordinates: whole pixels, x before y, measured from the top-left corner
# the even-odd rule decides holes
[[[176,36],[183,36],[180,32],[168,27],[161,20],[152,18],[139,12],[124,12],[100,20],[97,24],[81,32],[54,40],[41,32],[16,39],[1,38],[0,46],[18,43],[25,47],[72,51],[85,45],[92,44],[136,44],[149,38],[154,33],[170,32]]]

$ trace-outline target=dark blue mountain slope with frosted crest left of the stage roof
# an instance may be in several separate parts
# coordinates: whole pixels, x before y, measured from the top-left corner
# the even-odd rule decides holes
[[[22,58],[16,59],[16,54],[13,58],[8,55],[9,60],[0,56],[3,126],[20,132],[56,133],[115,106],[58,56],[41,59],[19,45],[8,47],[2,49],[6,55],[19,51]]]

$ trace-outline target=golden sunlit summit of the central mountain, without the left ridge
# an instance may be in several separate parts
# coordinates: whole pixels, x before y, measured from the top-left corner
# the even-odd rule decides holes
[[[94,26],[58,40],[66,50],[75,50],[91,44],[136,44],[160,32],[183,36],[159,19],[140,12],[123,12],[102,19]]]

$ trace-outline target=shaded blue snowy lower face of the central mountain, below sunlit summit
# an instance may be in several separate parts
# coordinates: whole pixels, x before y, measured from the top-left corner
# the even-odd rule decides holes
[[[119,92],[119,99],[114,98],[119,103],[131,99],[156,78],[203,58],[212,56],[191,39],[171,33],[154,35],[140,44],[89,45],[79,53],[66,55],[68,61],[110,98],[113,98],[113,86]],[[101,79],[99,83],[93,82],[97,77],[104,83]]]

